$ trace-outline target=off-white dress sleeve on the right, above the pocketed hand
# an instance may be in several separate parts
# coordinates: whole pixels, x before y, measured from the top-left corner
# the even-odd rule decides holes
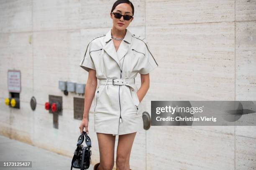
[[[145,59],[141,63],[141,69],[139,70],[140,74],[148,74],[149,72],[154,70],[156,67],[158,67],[157,62],[149,49],[147,41],[145,42],[145,51],[146,51]]]

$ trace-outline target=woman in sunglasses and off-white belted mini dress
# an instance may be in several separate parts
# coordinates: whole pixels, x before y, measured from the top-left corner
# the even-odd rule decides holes
[[[95,37],[87,45],[80,67],[89,72],[85,87],[84,116],[79,127],[88,134],[88,114],[95,97],[94,131],[100,150],[100,163],[94,170],[112,170],[115,135],[119,135],[116,168],[129,170],[131,148],[136,132],[143,130],[138,105],[149,88],[149,72],[157,67],[145,38],[126,29],[133,20],[134,7],[129,0],[117,0],[110,18],[113,27],[106,35]],[[141,87],[135,84],[141,74]],[[100,85],[97,88],[97,79]],[[97,88],[97,90],[96,90]]]

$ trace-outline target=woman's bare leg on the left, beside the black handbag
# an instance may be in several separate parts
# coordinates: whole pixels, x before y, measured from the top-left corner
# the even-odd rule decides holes
[[[100,149],[100,165],[97,170],[112,170],[114,167],[115,135],[97,133]]]

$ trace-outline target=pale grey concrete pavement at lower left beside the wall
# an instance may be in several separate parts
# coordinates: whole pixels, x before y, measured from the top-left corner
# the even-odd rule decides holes
[[[32,161],[32,168],[0,170],[70,170],[72,158],[0,135],[0,161]],[[93,166],[91,164],[88,170],[93,170]]]

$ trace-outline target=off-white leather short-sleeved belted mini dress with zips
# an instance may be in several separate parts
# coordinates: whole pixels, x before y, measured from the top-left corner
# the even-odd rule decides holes
[[[143,130],[135,77],[158,67],[146,39],[126,29],[116,51],[110,29],[90,41],[80,67],[96,70],[100,81],[95,91],[94,132],[123,135]]]

